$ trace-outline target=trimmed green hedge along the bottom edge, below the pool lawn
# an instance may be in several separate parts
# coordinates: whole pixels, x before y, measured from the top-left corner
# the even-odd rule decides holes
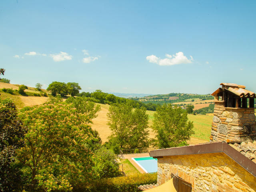
[[[115,177],[94,180],[86,189],[73,188],[74,192],[137,192],[138,186],[157,182],[157,173],[135,174],[127,177]]]

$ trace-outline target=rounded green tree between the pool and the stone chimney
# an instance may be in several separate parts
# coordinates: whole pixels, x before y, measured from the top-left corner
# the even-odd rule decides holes
[[[152,129],[156,132],[156,146],[169,148],[187,145],[194,134],[193,122],[188,121],[186,110],[171,104],[156,109]]]

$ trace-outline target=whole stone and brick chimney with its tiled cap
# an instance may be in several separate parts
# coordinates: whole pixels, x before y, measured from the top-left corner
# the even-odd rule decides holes
[[[215,97],[210,141],[247,142],[256,138],[254,92],[245,86],[221,83]],[[249,102],[248,102],[249,101]]]

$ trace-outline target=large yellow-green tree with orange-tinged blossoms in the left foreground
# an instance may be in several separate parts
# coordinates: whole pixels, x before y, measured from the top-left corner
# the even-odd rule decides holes
[[[22,111],[28,133],[18,159],[30,172],[31,190],[42,187],[46,191],[70,191],[90,181],[90,146],[98,139],[90,123],[98,110],[85,100],[78,105],[51,100]]]

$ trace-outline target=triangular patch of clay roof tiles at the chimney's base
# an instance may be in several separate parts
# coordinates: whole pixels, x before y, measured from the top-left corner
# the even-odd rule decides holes
[[[253,142],[241,142],[241,143],[234,143],[229,144],[235,150],[252,160],[252,162],[256,163],[256,140]]]

